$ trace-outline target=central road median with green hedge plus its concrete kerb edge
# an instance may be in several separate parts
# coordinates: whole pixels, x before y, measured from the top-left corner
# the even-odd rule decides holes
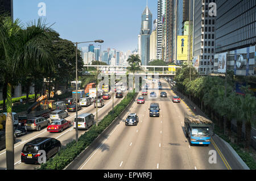
[[[78,142],[73,140],[69,142],[63,149],[55,155],[55,157],[50,158],[46,163],[43,163],[40,170],[61,170],[61,169],[77,169],[82,158],[85,154],[91,153],[96,147],[97,143],[104,139],[102,133],[107,134],[113,126],[114,123],[119,120],[119,117],[125,113],[126,108],[133,103],[136,93],[128,93],[126,99],[123,99],[117,106],[114,107],[114,115],[112,110],[109,111],[100,123],[98,127],[94,124],[88,132],[85,132],[79,137]]]

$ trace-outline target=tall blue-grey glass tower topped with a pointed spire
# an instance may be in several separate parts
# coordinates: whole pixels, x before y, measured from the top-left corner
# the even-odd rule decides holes
[[[150,35],[152,32],[152,14],[146,6],[141,16],[141,62],[148,65],[150,60]]]

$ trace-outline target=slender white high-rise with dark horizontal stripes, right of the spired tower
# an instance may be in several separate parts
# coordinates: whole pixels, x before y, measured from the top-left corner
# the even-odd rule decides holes
[[[157,59],[162,59],[163,24],[166,15],[166,0],[158,0]]]

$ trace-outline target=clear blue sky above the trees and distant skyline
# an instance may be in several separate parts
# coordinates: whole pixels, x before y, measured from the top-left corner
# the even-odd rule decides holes
[[[146,0],[14,0],[14,19],[22,23],[40,18],[38,4],[46,4],[46,22],[63,39],[91,41],[103,39],[102,50],[115,48],[126,52],[138,47],[141,14]],[[157,18],[157,0],[148,0],[153,20]],[[82,44],[80,47],[88,47]],[[98,47],[98,45],[96,45]],[[100,47],[98,47],[100,48]]]

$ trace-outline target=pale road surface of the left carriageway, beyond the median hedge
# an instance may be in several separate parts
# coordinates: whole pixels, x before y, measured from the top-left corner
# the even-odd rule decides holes
[[[114,94],[111,94],[112,97],[114,96],[114,106],[116,106],[122,99],[115,98]],[[124,94],[124,96],[126,93]],[[105,105],[102,108],[98,108],[98,120],[104,118],[104,116],[112,110],[113,99],[105,100]],[[96,108],[94,108],[93,104],[88,107],[83,107],[82,110],[78,111],[80,113],[93,113],[95,115],[94,119],[96,119]],[[65,118],[66,120],[71,121],[72,127],[65,129],[62,133],[50,133],[46,131],[46,128],[42,129],[41,131],[28,131],[28,134],[17,137],[16,143],[14,145],[14,169],[35,169],[39,167],[39,165],[30,165],[20,162],[20,153],[22,151],[23,145],[26,144],[28,141],[33,140],[36,137],[53,137],[56,138],[61,142],[61,145],[66,145],[68,142],[75,140],[76,138],[76,131],[73,129],[73,121],[76,117],[76,112],[69,112],[69,116]],[[83,134],[85,131],[79,131],[79,136]],[[6,169],[6,150],[3,149],[0,151],[0,169]]]

